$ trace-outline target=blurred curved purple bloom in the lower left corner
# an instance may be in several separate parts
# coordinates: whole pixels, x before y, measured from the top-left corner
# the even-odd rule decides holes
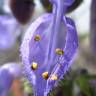
[[[16,63],[7,63],[0,67],[0,96],[7,96],[14,79],[21,76],[21,68]]]

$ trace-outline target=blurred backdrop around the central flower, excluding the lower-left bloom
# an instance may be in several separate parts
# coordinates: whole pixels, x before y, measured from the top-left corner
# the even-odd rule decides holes
[[[48,0],[0,0],[1,67],[16,63],[22,70],[19,47],[23,36],[30,23],[51,11]],[[76,24],[79,48],[69,72],[49,96],[96,96],[96,0],[74,0],[66,16]],[[33,96],[23,75],[13,79],[9,89],[6,96]]]

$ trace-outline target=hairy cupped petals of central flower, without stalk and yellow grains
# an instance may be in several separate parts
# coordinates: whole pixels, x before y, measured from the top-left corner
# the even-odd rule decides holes
[[[54,46],[52,59],[48,59],[48,48],[50,39],[52,39],[50,38],[52,30],[51,20],[52,15],[45,14],[32,23],[25,34],[20,49],[25,75],[33,85],[36,96],[43,96],[44,92],[45,94],[48,93],[48,90],[56,83],[54,80],[50,80],[52,74],[56,74],[58,80],[62,78],[70,67],[69,62],[72,60],[78,46],[74,23],[72,20],[64,17],[61,22],[60,32],[55,37],[56,42],[55,44],[52,43],[52,46]],[[34,41],[36,34],[39,34],[41,37],[41,40],[38,42]],[[56,48],[63,49],[64,55],[57,55],[54,50]],[[37,62],[37,70],[31,69],[32,62]],[[48,80],[42,78],[42,73],[45,71],[49,72]]]

